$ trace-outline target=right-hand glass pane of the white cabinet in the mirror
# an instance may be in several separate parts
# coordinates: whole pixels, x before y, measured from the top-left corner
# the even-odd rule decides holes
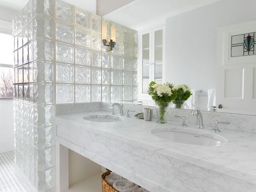
[[[162,39],[162,30],[155,30],[154,31],[154,81],[158,84],[162,84],[162,46],[163,46],[163,39]]]

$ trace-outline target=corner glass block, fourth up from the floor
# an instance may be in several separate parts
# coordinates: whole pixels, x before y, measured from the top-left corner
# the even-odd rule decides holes
[[[53,115],[53,106],[34,106],[34,126],[48,126],[51,125],[51,117]]]

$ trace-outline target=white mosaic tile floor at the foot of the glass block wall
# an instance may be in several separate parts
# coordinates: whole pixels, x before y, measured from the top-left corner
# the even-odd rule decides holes
[[[14,152],[0,153],[0,192],[28,192],[14,170]]]

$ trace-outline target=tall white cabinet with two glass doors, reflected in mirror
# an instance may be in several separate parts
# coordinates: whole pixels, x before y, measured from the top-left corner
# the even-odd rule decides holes
[[[139,94],[138,99],[150,100],[148,84],[164,82],[165,26],[139,32]]]

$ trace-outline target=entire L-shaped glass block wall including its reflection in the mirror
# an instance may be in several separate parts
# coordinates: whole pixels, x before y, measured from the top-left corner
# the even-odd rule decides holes
[[[54,192],[56,104],[137,97],[137,32],[106,22],[117,29],[113,52],[102,18],[64,1],[30,0],[13,21],[15,162],[37,191]]]

